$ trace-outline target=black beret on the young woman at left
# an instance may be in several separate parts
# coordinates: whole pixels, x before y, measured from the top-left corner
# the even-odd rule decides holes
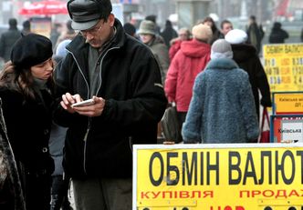
[[[11,61],[16,68],[29,68],[45,62],[52,55],[52,44],[46,36],[28,34],[13,45]]]

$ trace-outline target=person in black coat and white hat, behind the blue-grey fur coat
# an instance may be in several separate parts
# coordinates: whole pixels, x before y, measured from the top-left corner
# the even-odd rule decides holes
[[[256,55],[256,47],[246,44],[247,34],[245,31],[239,29],[228,32],[225,35],[225,40],[232,45],[235,63],[249,75],[249,82],[255,98],[256,115],[259,118],[260,104],[270,107],[271,98],[266,73],[259,57]],[[259,99],[259,91],[262,95],[261,101]]]

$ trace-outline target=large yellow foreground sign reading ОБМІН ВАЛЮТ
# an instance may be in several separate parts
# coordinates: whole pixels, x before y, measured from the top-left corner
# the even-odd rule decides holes
[[[132,209],[303,206],[303,144],[134,145],[133,157]]]

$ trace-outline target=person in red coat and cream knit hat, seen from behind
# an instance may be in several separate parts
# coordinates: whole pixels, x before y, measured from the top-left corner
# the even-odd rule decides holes
[[[212,29],[208,25],[194,25],[193,40],[183,41],[174,56],[165,81],[165,94],[170,103],[176,104],[181,129],[188,111],[196,75],[204,70],[210,60]]]

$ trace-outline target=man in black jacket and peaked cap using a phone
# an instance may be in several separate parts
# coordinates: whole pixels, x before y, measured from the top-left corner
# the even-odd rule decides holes
[[[77,209],[131,209],[132,145],[156,144],[167,100],[151,50],[126,35],[110,0],[70,0],[79,34],[57,65],[58,125],[68,126],[63,165]],[[93,105],[73,106],[92,98]]]

